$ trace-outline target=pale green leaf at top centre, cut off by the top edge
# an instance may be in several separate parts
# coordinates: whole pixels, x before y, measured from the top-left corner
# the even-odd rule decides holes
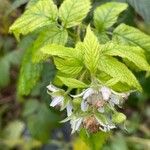
[[[70,28],[80,24],[90,8],[90,0],[65,0],[59,9],[63,26]]]

